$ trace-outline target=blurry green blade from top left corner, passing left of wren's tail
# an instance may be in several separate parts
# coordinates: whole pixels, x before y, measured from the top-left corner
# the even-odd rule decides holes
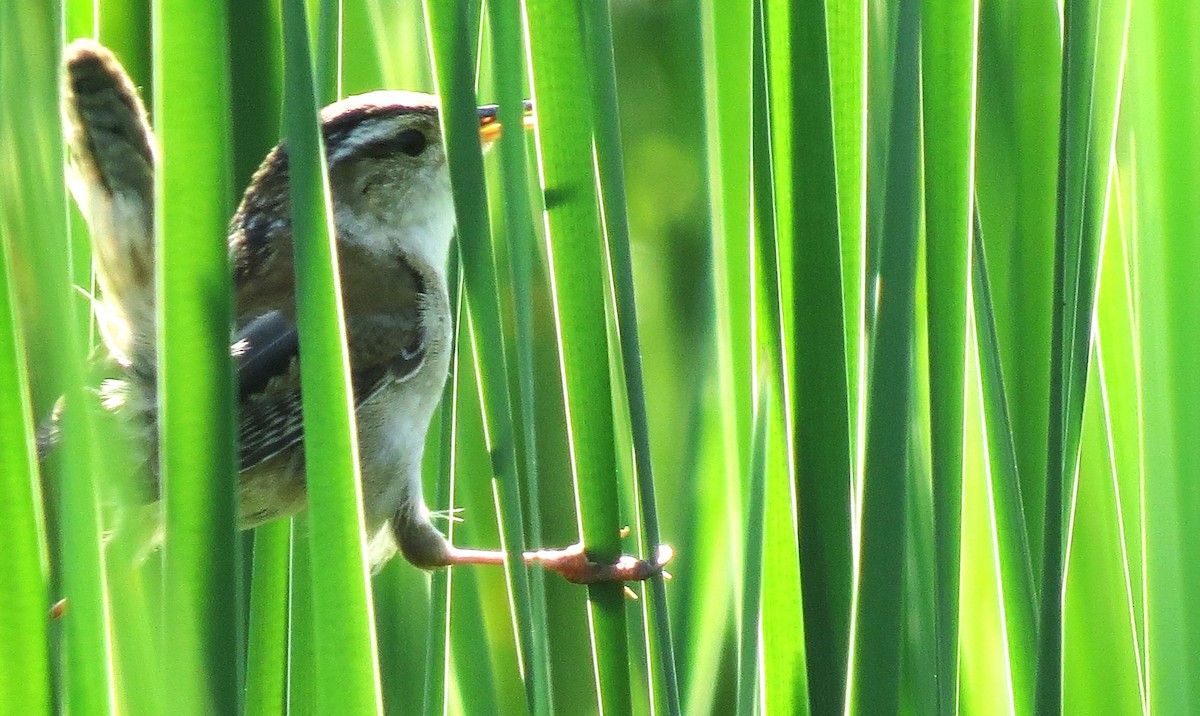
[[[79,329],[83,306],[71,288],[67,246],[67,198],[62,178],[66,158],[59,121],[61,58],[58,2],[36,8],[6,4],[0,8],[5,42],[0,47],[0,148],[5,172],[0,204],[7,260],[37,281],[30,313],[47,330],[36,338],[37,375],[31,377],[48,409],[65,396],[61,471],[48,475],[50,500],[59,521],[61,546],[52,594],[70,598],[61,622],[61,672],[54,692],[56,708],[72,712],[106,712],[115,708],[113,640],[106,618],[106,574],[101,552],[97,483],[106,482],[96,453],[97,416],[84,390],[85,338]],[[8,83],[7,78],[20,78]],[[36,118],[36,121],[31,121]],[[30,326],[32,329],[32,326]]]

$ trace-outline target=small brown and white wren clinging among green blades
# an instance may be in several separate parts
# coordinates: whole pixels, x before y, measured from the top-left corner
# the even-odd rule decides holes
[[[66,50],[64,115],[71,188],[91,229],[97,320],[124,377],[106,407],[138,432],[157,500],[154,134],[133,83],[91,41]],[[499,133],[479,110],[481,140]],[[372,562],[398,548],[420,567],[503,564],[504,553],[451,546],[430,522],[420,467],[452,349],[446,261],[454,197],[437,98],[404,91],[350,97],[320,113],[332,193],[346,337],[358,420],[362,509]],[[236,324],[239,524],[305,506],[300,343],[286,143],[263,161],[229,227]],[[661,556],[661,555],[660,555]],[[661,562],[595,564],[581,547],[529,552],[572,582],[644,579]]]

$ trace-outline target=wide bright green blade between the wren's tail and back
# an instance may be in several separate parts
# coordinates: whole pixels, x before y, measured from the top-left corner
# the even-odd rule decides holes
[[[229,86],[224,5],[154,5],[164,674],[181,708],[229,712],[236,660]],[[167,48],[170,48],[170,61]],[[212,68],[216,70],[212,70]]]

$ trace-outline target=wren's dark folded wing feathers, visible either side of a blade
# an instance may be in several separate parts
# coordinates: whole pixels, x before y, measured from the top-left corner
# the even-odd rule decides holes
[[[408,308],[347,319],[355,407],[388,383],[404,380],[420,369],[426,345],[420,307],[414,302]],[[304,439],[296,327],[278,311],[271,311],[238,331],[233,353],[238,366],[239,464],[246,470]]]

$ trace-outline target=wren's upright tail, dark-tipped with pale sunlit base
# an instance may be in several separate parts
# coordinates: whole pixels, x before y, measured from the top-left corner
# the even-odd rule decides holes
[[[77,40],[64,65],[70,182],[91,231],[97,319],[116,360],[154,365],[154,134],[113,53]]]

